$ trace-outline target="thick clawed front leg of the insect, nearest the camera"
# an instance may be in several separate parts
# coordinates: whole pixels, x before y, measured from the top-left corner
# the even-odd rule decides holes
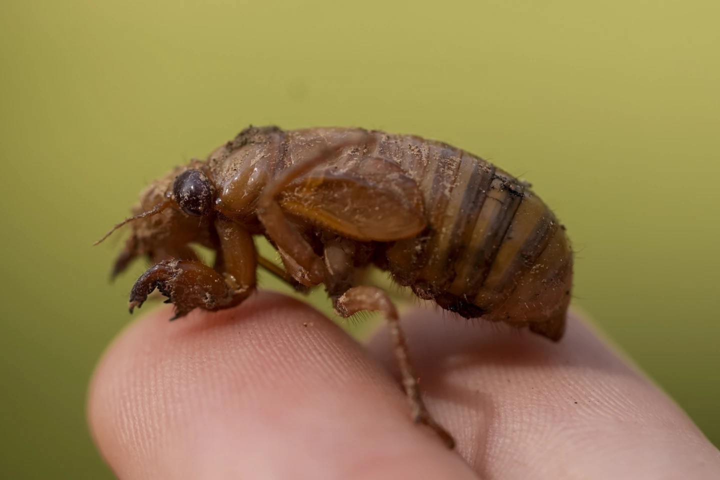
[[[193,309],[220,310],[243,302],[255,289],[257,253],[252,236],[234,222],[216,220],[222,272],[199,261],[170,258],[150,267],[130,292],[130,312],[158,289],[175,304],[173,320]]]

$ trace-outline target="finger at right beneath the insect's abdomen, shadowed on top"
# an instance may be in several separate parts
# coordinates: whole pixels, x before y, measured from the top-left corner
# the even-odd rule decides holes
[[[402,327],[428,408],[482,478],[720,478],[718,450],[577,317],[559,343],[443,317]],[[397,371],[384,333],[369,348]]]

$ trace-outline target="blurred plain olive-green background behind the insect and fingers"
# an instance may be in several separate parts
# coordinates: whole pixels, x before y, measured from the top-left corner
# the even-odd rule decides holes
[[[84,420],[138,191],[246,125],[438,138],[567,225],[575,304],[720,443],[716,1],[0,5],[0,477],[110,478]],[[324,304],[325,307],[327,304]]]

